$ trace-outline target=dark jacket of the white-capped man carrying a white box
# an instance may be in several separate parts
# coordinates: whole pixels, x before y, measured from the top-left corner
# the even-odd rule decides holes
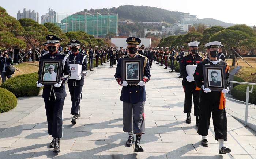
[[[191,83],[191,82],[188,82],[187,79],[186,79],[186,77],[188,76],[186,66],[187,65],[188,66],[197,65],[202,60],[203,60],[203,57],[201,57],[197,54],[195,54],[195,55],[189,54],[187,56],[182,57],[181,68],[180,69],[181,69],[181,74],[183,76],[183,80],[182,80],[182,85],[183,86]],[[192,82],[195,82],[195,81],[192,81]]]

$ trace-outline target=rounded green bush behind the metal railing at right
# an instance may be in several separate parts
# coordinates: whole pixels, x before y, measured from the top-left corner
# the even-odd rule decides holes
[[[237,98],[238,100],[241,101],[246,101],[246,87],[249,86],[251,90],[251,85],[246,85],[246,84],[240,84],[235,86],[231,90],[231,94],[233,97]],[[252,93],[249,93],[249,103],[256,104],[256,89],[253,89]]]

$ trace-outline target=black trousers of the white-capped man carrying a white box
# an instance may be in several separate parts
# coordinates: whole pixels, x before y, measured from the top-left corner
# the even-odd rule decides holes
[[[196,83],[195,81],[192,82],[186,82],[186,84],[183,86],[184,92],[185,92],[185,99],[184,99],[184,113],[191,113],[192,109],[192,96],[194,101],[194,115],[198,116],[200,115],[200,109],[199,109],[199,92],[200,90],[196,89]]]

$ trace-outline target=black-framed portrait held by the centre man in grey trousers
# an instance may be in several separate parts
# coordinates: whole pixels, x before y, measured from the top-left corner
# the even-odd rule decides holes
[[[137,85],[143,80],[143,58],[125,58],[121,62],[122,82],[126,81],[129,85]],[[134,70],[133,73],[132,70]]]

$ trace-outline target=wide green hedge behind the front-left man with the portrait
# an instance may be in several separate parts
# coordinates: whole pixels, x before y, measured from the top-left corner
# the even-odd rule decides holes
[[[1,87],[9,90],[16,97],[37,96],[41,88],[37,87],[38,73],[22,74],[5,81]]]

